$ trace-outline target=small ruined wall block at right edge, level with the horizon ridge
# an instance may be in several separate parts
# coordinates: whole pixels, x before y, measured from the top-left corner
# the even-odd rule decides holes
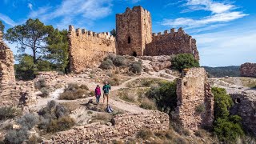
[[[256,63],[246,62],[240,67],[240,75],[256,78]]]

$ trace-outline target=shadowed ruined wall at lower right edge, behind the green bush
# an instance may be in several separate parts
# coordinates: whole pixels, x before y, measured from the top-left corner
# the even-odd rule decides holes
[[[238,114],[245,130],[256,136],[256,94],[237,93],[230,96],[234,102],[230,113]]]

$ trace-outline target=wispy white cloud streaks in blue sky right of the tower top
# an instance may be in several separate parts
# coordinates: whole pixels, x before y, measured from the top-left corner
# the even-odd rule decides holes
[[[234,11],[237,6],[224,3],[214,2],[212,0],[186,0],[185,4],[182,4],[182,13],[192,12],[195,10],[210,11],[211,14],[202,18],[176,18],[176,19],[164,19],[163,26],[183,26],[186,29],[198,28],[203,26],[222,26],[218,23],[230,22],[238,18],[245,17],[249,14],[244,14],[242,11]]]

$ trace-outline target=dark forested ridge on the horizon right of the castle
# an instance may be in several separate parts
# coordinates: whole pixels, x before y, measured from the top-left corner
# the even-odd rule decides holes
[[[206,69],[210,78],[220,78],[220,77],[239,77],[240,76],[240,66],[220,66],[220,67],[209,67],[202,66]]]

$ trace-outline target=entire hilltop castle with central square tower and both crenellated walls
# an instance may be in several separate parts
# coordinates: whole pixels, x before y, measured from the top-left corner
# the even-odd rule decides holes
[[[182,28],[152,34],[150,12],[142,6],[126,8],[125,13],[116,14],[116,31],[114,38],[108,32],[97,34],[69,26],[70,70],[79,72],[97,66],[108,54],[156,56],[187,53],[199,61],[196,40],[185,34]]]

